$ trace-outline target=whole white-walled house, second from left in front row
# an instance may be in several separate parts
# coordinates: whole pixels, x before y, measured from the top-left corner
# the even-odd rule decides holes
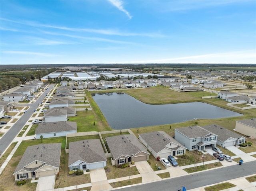
[[[107,159],[99,139],[69,142],[69,170],[98,169],[106,167]]]

